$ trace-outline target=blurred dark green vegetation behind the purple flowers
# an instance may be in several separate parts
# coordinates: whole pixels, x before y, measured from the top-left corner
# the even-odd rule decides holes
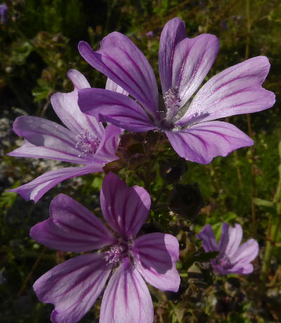
[[[119,171],[127,183],[150,192],[152,211],[143,232],[171,232],[180,241],[178,293],[150,287],[155,322],[281,322],[280,1],[11,0],[6,5],[8,19],[0,25],[0,322],[50,322],[53,306],[39,303],[32,284],[72,254],[40,246],[29,230],[48,218],[51,199],[64,192],[101,214],[100,173],[68,180],[37,204],[7,192],[63,166],[6,156],[22,143],[12,130],[15,117],[58,121],[50,97],[72,91],[66,77],[70,68],[83,72],[91,86],[103,88],[105,77],[80,57],[77,44],[85,40],[98,49],[100,40],[115,30],[141,48],[159,81],[159,36],[175,16],[185,21],[188,37],[210,33],[220,40],[207,79],[247,58],[266,55],[271,69],[263,86],[276,93],[277,103],[251,116],[230,117],[227,121],[249,133],[255,145],[216,157],[209,165],[183,162],[165,140],[153,145],[155,133],[122,139],[120,160],[106,171]],[[240,223],[245,239],[258,240],[253,274],[216,277],[211,271],[195,234],[210,223],[219,237],[224,221]],[[99,309],[100,298],[81,322],[98,322]]]

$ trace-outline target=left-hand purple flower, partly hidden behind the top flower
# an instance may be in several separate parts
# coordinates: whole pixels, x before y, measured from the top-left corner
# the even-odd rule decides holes
[[[84,75],[70,70],[67,76],[74,84],[71,93],[55,93],[51,103],[55,113],[67,128],[39,117],[18,117],[13,130],[25,138],[21,147],[9,156],[57,159],[82,167],[55,169],[39,176],[30,183],[15,188],[23,198],[37,202],[48,190],[58,183],[87,173],[103,171],[107,162],[117,159],[115,154],[119,143],[120,128],[109,125],[106,128],[95,118],[83,114],[77,105],[78,90],[89,88]],[[107,79],[108,91],[126,92],[113,81]],[[125,96],[124,95],[124,96]]]

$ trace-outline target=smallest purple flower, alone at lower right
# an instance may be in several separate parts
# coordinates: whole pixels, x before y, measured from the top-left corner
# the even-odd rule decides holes
[[[235,223],[234,228],[223,223],[221,239],[218,244],[214,231],[209,224],[197,235],[198,239],[202,239],[204,251],[220,251],[218,256],[211,260],[211,265],[218,275],[247,275],[253,272],[254,267],[251,261],[259,253],[259,244],[256,240],[249,239],[240,246],[242,235],[241,225],[237,223]]]

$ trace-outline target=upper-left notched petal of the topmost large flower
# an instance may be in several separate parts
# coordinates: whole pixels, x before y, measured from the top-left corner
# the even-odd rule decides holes
[[[155,118],[158,117],[158,89],[155,74],[145,55],[119,32],[107,35],[100,50],[79,42],[79,52],[91,66],[129,92]]]

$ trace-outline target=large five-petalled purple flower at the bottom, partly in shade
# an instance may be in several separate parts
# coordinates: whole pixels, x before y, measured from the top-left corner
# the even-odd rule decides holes
[[[84,206],[60,194],[51,202],[48,220],[35,225],[30,235],[60,251],[84,252],[41,276],[34,291],[41,302],[53,303],[52,322],[77,322],[103,294],[100,323],[151,323],[153,305],[143,278],[164,291],[178,291],[178,241],[172,235],[150,233],[133,239],[145,222],[150,195],[143,187],[128,187],[113,173],[100,192],[103,216],[109,229]]]

